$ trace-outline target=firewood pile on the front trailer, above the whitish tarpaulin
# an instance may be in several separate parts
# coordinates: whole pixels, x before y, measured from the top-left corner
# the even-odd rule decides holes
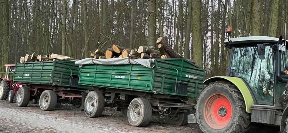
[[[90,58],[95,59],[110,59],[110,58],[126,58],[131,59],[149,59],[149,58],[181,58],[181,55],[173,50],[170,44],[163,38],[157,39],[158,49],[153,46],[140,46],[138,49],[130,49],[113,44],[105,53],[99,49],[95,52],[90,52]]]

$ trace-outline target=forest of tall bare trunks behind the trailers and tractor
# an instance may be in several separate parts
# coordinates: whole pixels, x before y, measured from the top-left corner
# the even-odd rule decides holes
[[[0,0],[0,70],[21,56],[88,58],[112,44],[155,46],[163,36],[207,77],[226,75],[231,38],[286,35],[288,0]]]

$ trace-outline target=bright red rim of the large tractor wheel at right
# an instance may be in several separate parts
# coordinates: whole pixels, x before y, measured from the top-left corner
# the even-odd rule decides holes
[[[223,94],[213,94],[205,101],[203,113],[206,123],[211,128],[222,129],[231,120],[231,103]]]

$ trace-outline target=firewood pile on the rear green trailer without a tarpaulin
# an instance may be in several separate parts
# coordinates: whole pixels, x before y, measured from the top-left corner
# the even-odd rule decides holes
[[[43,62],[43,61],[56,61],[56,60],[77,60],[72,59],[68,56],[58,55],[52,53],[50,55],[41,55],[36,54],[35,52],[30,54],[26,54],[25,56],[20,57],[20,62]]]

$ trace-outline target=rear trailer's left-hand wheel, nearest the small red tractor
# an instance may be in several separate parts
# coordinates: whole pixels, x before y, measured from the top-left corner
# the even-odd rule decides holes
[[[20,87],[16,93],[15,101],[18,107],[26,107],[30,101],[30,89]]]

